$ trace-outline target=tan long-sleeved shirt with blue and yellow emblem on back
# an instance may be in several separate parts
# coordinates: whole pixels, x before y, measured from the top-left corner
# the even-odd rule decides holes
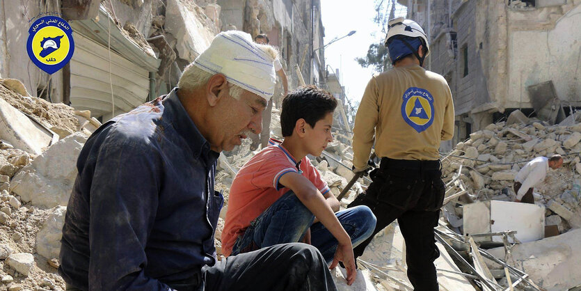
[[[436,160],[454,135],[454,103],[440,74],[419,65],[394,68],[369,81],[353,127],[353,166],[365,168],[374,141],[378,157]]]

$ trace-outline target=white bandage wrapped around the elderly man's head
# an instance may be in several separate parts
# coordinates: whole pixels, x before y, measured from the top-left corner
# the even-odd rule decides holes
[[[211,74],[224,74],[228,81],[270,100],[276,74],[274,59],[243,31],[219,33],[193,64]]]

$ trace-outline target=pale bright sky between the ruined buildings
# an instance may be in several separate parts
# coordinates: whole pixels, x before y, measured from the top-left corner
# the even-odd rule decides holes
[[[374,7],[373,0],[321,0],[325,44],[335,37],[347,35],[349,31],[357,31],[325,48],[326,64],[333,71],[340,71],[341,84],[352,102],[361,100],[365,86],[374,74],[372,68],[361,67],[355,58],[364,57],[369,45],[383,42],[385,38],[379,25],[373,22]]]

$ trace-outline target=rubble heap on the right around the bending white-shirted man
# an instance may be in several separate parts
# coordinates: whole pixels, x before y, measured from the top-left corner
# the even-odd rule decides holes
[[[519,113],[514,111],[512,116]],[[459,178],[475,200],[510,201],[516,198],[512,184],[521,167],[535,157],[562,155],[562,168],[548,171],[546,180],[534,188],[534,196],[536,203],[548,209],[547,222],[557,223],[561,233],[580,228],[581,124],[549,126],[525,118],[488,125],[458,143],[442,159],[444,180]]]

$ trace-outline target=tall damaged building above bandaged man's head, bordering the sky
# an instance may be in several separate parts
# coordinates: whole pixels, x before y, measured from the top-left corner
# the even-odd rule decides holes
[[[222,30],[266,34],[278,47],[289,88],[325,84],[324,27],[319,0],[218,0]],[[299,72],[301,76],[299,76]],[[279,88],[280,89],[280,88]]]

